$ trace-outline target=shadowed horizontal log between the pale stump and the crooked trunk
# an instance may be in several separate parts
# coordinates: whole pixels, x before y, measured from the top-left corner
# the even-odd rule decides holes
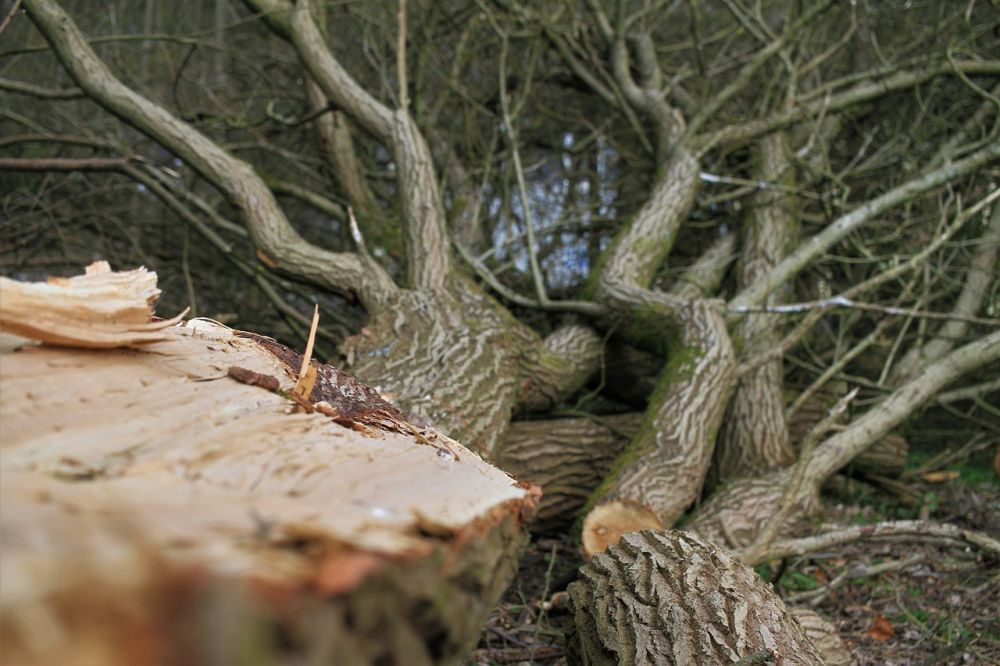
[[[622,414],[512,423],[496,462],[541,486],[532,528],[545,531],[571,523],[641,422],[642,414]]]

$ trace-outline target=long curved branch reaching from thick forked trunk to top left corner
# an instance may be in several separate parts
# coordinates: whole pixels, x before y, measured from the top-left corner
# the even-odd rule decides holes
[[[330,289],[356,291],[369,308],[378,307],[395,291],[388,274],[376,264],[355,254],[329,252],[306,243],[251,165],[119,81],[57,3],[27,0],[24,5],[84,92],[221,189],[240,211],[254,244],[275,265]]]

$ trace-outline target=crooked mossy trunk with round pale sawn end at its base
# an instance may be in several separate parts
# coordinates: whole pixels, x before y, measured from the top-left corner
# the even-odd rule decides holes
[[[618,78],[630,80],[622,44],[615,54]],[[661,135],[682,125],[662,98],[631,97],[670,120]],[[690,210],[697,178],[696,157],[674,146],[649,200],[602,256],[599,299],[627,339],[656,350],[667,365],[639,433],[591,497],[583,524],[588,555],[637,526],[669,527],[697,499],[733,388],[735,357],[721,303],[649,289]]]

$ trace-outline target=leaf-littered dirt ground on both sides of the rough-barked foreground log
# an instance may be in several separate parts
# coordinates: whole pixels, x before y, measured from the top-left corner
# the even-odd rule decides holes
[[[1000,480],[911,482],[920,507],[876,494],[827,502],[824,526],[929,518],[1000,538]],[[566,585],[580,564],[568,536],[536,538],[469,664],[564,663]],[[859,665],[1000,664],[1000,562],[954,544],[863,541],[759,567],[790,606],[830,620]]]

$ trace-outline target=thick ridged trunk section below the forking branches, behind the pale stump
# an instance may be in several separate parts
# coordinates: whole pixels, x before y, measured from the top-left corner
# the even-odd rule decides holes
[[[353,374],[417,422],[493,454],[517,402],[521,355],[537,344],[499,303],[456,278],[448,291],[401,292],[344,351]]]

